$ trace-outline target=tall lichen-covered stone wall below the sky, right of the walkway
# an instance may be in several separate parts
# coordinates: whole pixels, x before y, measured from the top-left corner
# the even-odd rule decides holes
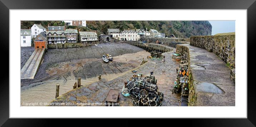
[[[235,68],[235,35],[191,36],[190,45],[214,52],[230,68]]]

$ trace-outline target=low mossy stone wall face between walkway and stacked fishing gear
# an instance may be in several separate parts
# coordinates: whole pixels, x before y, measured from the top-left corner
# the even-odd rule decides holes
[[[189,49],[187,46],[177,45],[176,53],[187,57],[188,70],[189,70],[189,72],[188,72],[189,73],[189,75],[188,75],[188,80],[189,80],[189,83],[188,83],[188,88],[189,88],[188,106],[196,106],[197,96],[196,96],[194,80],[193,80],[193,76],[192,76],[192,72],[191,72]]]

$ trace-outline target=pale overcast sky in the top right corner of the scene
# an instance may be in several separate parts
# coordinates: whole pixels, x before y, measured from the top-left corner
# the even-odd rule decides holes
[[[235,32],[235,20],[210,20],[212,25],[212,35]]]

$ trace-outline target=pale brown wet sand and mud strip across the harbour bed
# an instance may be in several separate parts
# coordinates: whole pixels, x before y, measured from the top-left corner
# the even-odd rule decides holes
[[[55,98],[56,84],[60,85],[59,95],[62,95],[73,89],[78,77],[82,78],[83,86],[97,82],[99,75],[102,75],[101,78],[105,80],[112,80],[138,67],[141,60],[147,58],[149,54],[146,51],[139,51],[114,56],[113,63],[104,63],[102,59],[98,58],[55,63],[45,71],[49,77],[55,77],[54,79],[34,82],[21,87],[21,106],[25,106],[26,103],[50,102]]]

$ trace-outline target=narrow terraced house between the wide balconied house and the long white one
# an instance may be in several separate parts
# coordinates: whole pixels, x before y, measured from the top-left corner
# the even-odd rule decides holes
[[[67,43],[77,43],[78,42],[78,31],[76,29],[66,29],[64,31]]]

